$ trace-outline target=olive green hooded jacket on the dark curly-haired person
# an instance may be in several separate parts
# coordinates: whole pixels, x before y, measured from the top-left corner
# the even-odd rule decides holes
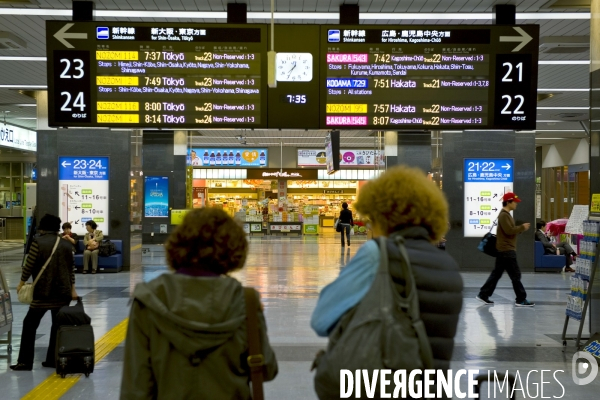
[[[264,378],[277,375],[259,312]],[[251,399],[246,308],[234,278],[164,274],[133,293],[121,399]]]

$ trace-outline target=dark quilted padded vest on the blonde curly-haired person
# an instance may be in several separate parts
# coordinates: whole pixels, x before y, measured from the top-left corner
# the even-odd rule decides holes
[[[399,232],[406,239],[417,292],[421,319],[433,352],[435,369],[450,368],[454,336],[462,309],[463,281],[456,261],[429,241],[424,228],[409,228]],[[390,235],[393,237],[393,235]],[[398,290],[404,291],[400,252],[388,241],[390,272]]]

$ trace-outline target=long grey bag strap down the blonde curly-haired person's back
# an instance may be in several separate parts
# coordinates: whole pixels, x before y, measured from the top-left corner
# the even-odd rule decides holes
[[[385,259],[388,260],[387,240],[386,238],[379,238],[379,241],[379,248],[385,249],[383,251],[380,250],[381,257],[385,257]],[[412,326],[417,333],[417,338],[419,339],[419,352],[421,353],[421,360],[423,361],[423,366],[425,369],[433,369],[433,352],[431,350],[429,338],[427,337],[425,324],[423,323],[423,320],[421,320],[421,314],[419,311],[419,295],[417,293],[417,285],[415,283],[415,277],[410,264],[410,258],[408,257],[406,246],[404,245],[405,239],[401,235],[394,235],[393,241],[400,252],[400,265],[402,268],[402,276],[404,277],[406,285],[406,299],[408,300],[409,304],[407,313],[412,321]],[[389,260],[386,262],[386,264],[389,264]]]

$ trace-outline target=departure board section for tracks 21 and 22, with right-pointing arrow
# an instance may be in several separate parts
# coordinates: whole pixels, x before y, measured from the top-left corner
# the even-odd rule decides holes
[[[539,27],[323,26],[321,128],[535,129]]]

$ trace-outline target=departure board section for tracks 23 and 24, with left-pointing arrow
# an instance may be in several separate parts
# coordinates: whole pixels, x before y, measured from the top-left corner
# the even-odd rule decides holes
[[[266,25],[47,21],[49,125],[264,128]]]

